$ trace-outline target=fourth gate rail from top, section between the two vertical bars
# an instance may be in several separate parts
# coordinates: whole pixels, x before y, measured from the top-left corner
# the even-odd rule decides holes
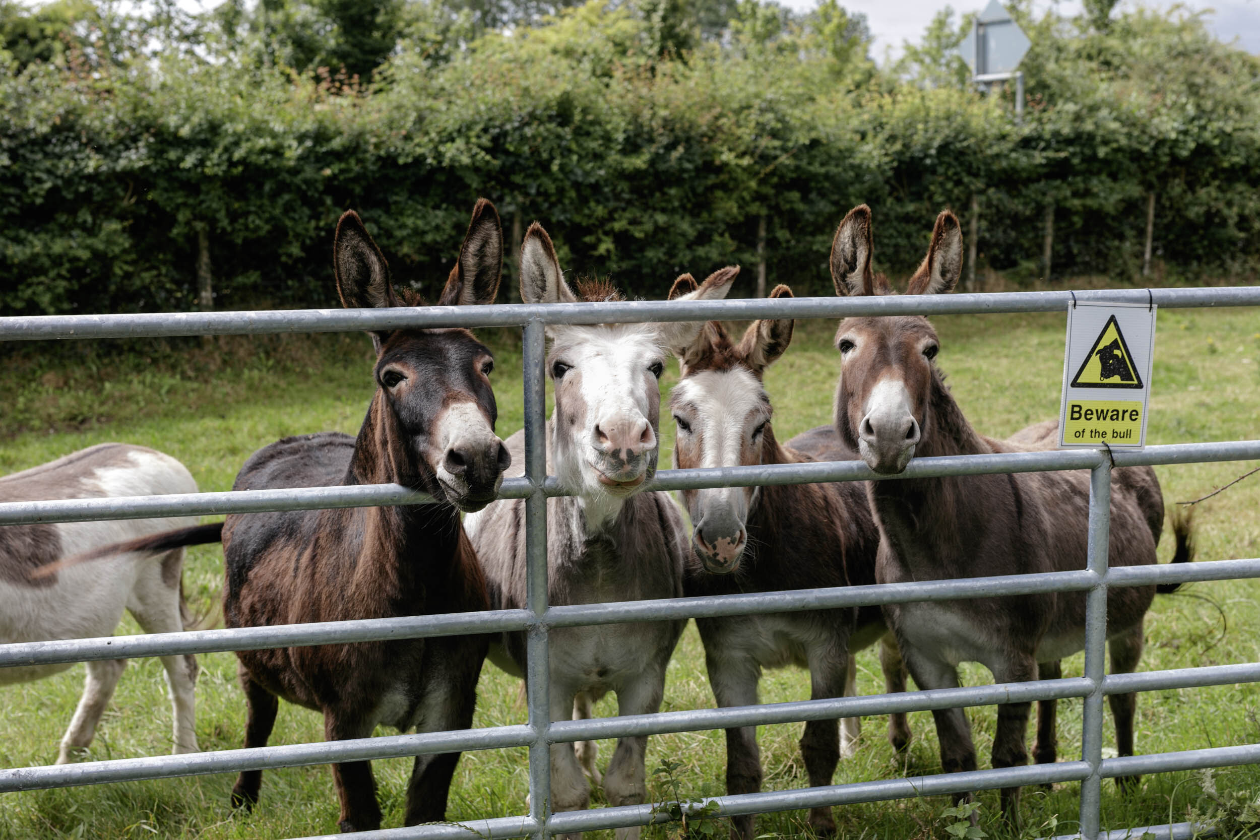
[[[903,691],[898,694],[828,698],[825,700],[799,700],[796,703],[766,703],[762,705],[726,707],[723,709],[659,712],[655,714],[635,714],[616,718],[558,720],[551,725],[547,737],[556,743],[604,741],[607,738],[658,735],[670,732],[762,727],[776,723],[800,723],[803,720],[833,720],[835,718],[858,718],[895,712],[930,712],[932,709],[959,709],[973,705],[997,705],[999,703],[1063,700],[1085,696],[1092,690],[1092,681],[1077,676],[1060,680],[1003,683],[999,685],[978,685],[958,689],[931,689],[927,691]]]

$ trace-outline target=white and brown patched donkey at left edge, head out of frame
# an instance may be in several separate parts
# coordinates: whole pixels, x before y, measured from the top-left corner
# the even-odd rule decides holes
[[[43,499],[102,499],[197,492],[183,463],[142,446],[98,443],[49,463],[0,477],[0,502]],[[112,544],[195,524],[193,518],[123,519],[0,526],[0,644],[108,636],[135,616],[149,633],[169,633],[193,623],[184,603],[184,549],[160,555],[123,553],[108,560],[57,568],[57,562]],[[174,753],[197,752],[197,657],[163,656],[174,718]],[[73,664],[0,667],[0,685],[29,683]],[[87,662],[87,679],[74,718],[62,738],[57,763],[87,753],[101,714],[113,696],[125,659]]]

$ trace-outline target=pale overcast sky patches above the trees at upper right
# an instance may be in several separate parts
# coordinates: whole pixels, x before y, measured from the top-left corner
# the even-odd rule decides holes
[[[780,0],[788,6],[798,10],[811,9],[816,0]],[[955,11],[979,11],[988,0],[951,0],[950,5]],[[900,54],[903,42],[917,42],[927,21],[937,10],[945,6],[944,0],[840,0],[840,5],[850,11],[861,11],[871,24],[871,34],[874,35],[874,47],[871,50],[872,58],[881,64],[885,59],[885,50],[891,49],[893,55]],[[1063,0],[1057,4],[1062,14],[1077,14],[1081,9],[1079,0]],[[1121,8],[1133,6],[1133,0],[1121,0]],[[1148,6],[1168,8],[1173,4],[1168,0],[1154,0],[1147,3]],[[1230,42],[1235,38],[1239,44],[1251,52],[1260,53],[1260,0],[1184,0],[1182,4],[1193,11],[1210,11],[1206,16],[1207,25],[1221,40]],[[1038,13],[1046,11],[1051,3],[1037,0],[1034,4]]]

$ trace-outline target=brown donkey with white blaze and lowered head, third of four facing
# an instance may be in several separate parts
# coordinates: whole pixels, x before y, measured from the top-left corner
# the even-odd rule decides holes
[[[670,296],[694,287],[684,275]],[[791,297],[791,290],[779,286],[770,296]],[[791,334],[791,319],[756,321],[738,344],[721,324],[704,326],[682,354],[683,377],[669,398],[678,426],[675,466],[813,461],[809,452],[795,447],[819,448],[820,438],[829,438],[823,440],[832,450],[824,453],[827,460],[857,457],[835,451],[834,432],[808,432],[786,447],[775,440],[762,374],[788,349]],[[684,490],[683,501],[693,523],[693,558],[684,578],[688,596],[874,583],[879,531],[862,484]],[[697,618],[696,625],[719,707],[756,704],[762,669],[785,665],[809,669],[810,699],[852,695],[852,654],[881,637],[887,642],[881,651],[887,689],[906,689],[879,607]],[[800,751],[811,786],[832,783],[842,753],[848,756],[857,748],[859,722],[845,718],[839,733],[834,719],[805,724]],[[761,790],[756,733],[756,727],[726,730],[728,793]],[[892,715],[888,737],[898,749],[908,744],[906,715]],[[816,831],[835,830],[830,807],[811,809],[809,821]],[[733,817],[731,834],[750,840],[752,815]]]

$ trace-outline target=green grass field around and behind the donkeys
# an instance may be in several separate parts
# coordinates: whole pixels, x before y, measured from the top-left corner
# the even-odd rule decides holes
[[[951,316],[935,319],[941,335],[939,364],[973,423],[1004,436],[1058,411],[1063,316]],[[838,360],[830,349],[833,322],[800,322],[793,348],[766,377],[776,407],[780,440],[827,423]],[[520,354],[508,330],[483,336],[496,353],[499,433],[522,424]],[[50,359],[23,351],[0,373],[0,472],[11,472],[102,442],[126,441],[160,448],[181,460],[202,490],[228,490],[256,448],[286,434],[340,429],[354,432],[372,393],[370,345],[364,336],[289,336],[205,339],[194,343],[132,345],[122,355],[69,348]],[[662,387],[677,380],[672,365]],[[1173,443],[1260,436],[1260,314],[1255,310],[1160,312],[1149,442]],[[662,466],[668,466],[673,423],[662,428]],[[1255,463],[1158,467],[1166,500],[1196,499]],[[1260,475],[1197,506],[1198,557],[1205,560],[1260,554]],[[1167,562],[1169,543],[1160,548]],[[218,547],[190,552],[185,586],[190,598],[218,594]],[[1144,669],[1167,669],[1260,660],[1260,583],[1222,582],[1187,587],[1160,597],[1148,617]],[[129,621],[120,633],[137,632]],[[241,746],[243,703],[232,654],[200,657],[198,738],[203,749]],[[1065,661],[1065,676],[1080,675],[1080,655]],[[859,657],[863,694],[877,693],[878,664],[872,651]],[[990,681],[975,666],[966,684]],[[82,680],[82,666],[55,678],[0,693],[0,766],[47,764],[68,723]],[[765,701],[805,699],[808,676],[785,670],[766,675]],[[664,709],[708,708],[712,694],[694,627],[689,627],[670,665]],[[600,714],[612,714],[606,699]],[[1139,699],[1138,749],[1163,752],[1260,742],[1260,689],[1227,685],[1145,694]],[[980,763],[995,720],[992,708],[969,710]],[[92,758],[163,754],[169,749],[169,705],[156,660],[139,660],[123,674],[102,720]],[[486,665],[480,684],[478,727],[525,720],[517,680]],[[1081,701],[1060,704],[1060,754],[1080,751]],[[915,743],[897,759],[883,739],[882,718],[866,722],[858,756],[842,762],[837,782],[940,772],[935,733],[927,713],[911,715]],[[1110,730],[1110,723],[1108,723]],[[796,748],[801,725],[761,729],[765,788],[806,785]],[[384,733],[382,733],[384,734]],[[319,741],[316,714],[281,704],[273,744]],[[1113,748],[1108,733],[1106,748]],[[601,743],[601,758],[611,744]],[[723,792],[724,747],[721,732],[654,737],[648,766],[682,762],[677,771],[684,797]],[[602,763],[601,762],[601,763]],[[375,762],[386,826],[402,821],[410,762]],[[335,830],[336,802],[328,769],[268,771],[262,802],[253,815],[228,807],[232,776],[38,791],[0,798],[0,837],[289,837]],[[1260,790],[1260,771],[1223,769],[1221,791]],[[649,781],[664,798],[659,780]],[[997,792],[982,793],[982,826],[990,836],[1043,836],[1075,827],[1075,783],[1053,791],[1027,791],[1024,825],[1012,830],[995,819]],[[527,762],[523,749],[466,753],[452,788],[452,820],[525,812]],[[600,802],[596,795],[596,802]],[[1121,797],[1104,783],[1105,826],[1182,821],[1203,803],[1202,780],[1173,773],[1143,780]],[[948,798],[925,798],[837,809],[844,837],[944,837],[951,820],[941,817]],[[766,815],[759,834],[808,834],[803,812]],[[664,829],[653,829],[660,836]],[[611,837],[611,832],[607,832]]]

